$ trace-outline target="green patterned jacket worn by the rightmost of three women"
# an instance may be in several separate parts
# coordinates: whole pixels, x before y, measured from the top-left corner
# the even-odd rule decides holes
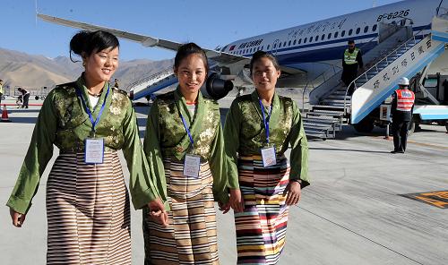
[[[269,115],[267,107],[264,108],[264,115]],[[269,126],[269,146],[275,146],[279,157],[288,150],[290,144],[289,178],[300,179],[301,186],[305,187],[309,184],[308,142],[296,102],[275,93]],[[268,145],[256,90],[251,95],[238,97],[232,102],[224,125],[224,139],[228,186],[238,188],[237,156],[261,156],[261,149]]]

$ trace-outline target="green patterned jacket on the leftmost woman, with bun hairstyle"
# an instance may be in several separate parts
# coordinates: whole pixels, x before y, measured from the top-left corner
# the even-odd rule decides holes
[[[53,156],[53,145],[56,145],[60,153],[84,151],[84,140],[90,136],[91,122],[75,89],[78,86],[83,97],[88,98],[84,84],[83,78],[80,77],[76,82],[58,85],[48,93],[40,109],[21,172],[7,202],[12,209],[21,213],[30,209],[40,176]],[[96,137],[104,138],[105,151],[123,150],[130,172],[129,189],[134,207],[141,209],[149,201],[159,197],[159,194],[149,175],[150,170],[142,150],[132,102],[125,91],[116,90],[112,86],[106,98],[108,85],[105,84],[104,92],[92,112],[93,118],[96,119],[106,100],[104,111],[96,126]],[[90,107],[89,100],[87,104]]]

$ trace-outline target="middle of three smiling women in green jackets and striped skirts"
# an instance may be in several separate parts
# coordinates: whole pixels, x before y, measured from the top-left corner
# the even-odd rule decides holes
[[[179,47],[177,90],[151,106],[143,148],[168,211],[143,210],[145,264],[219,262],[213,201],[229,205],[220,107],[200,91],[208,70],[201,47]]]

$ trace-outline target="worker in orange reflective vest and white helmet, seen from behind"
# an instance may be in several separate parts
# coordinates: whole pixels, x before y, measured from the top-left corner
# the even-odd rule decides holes
[[[415,95],[409,90],[409,79],[401,77],[399,89],[392,95],[392,154],[404,153],[408,140],[408,127],[412,119]]]

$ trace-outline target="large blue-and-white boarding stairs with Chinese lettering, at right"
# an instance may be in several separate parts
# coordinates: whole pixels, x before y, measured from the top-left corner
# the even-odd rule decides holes
[[[435,20],[443,25],[442,28],[448,23],[437,17]],[[375,59],[373,66],[352,82],[355,92],[351,97],[348,95],[348,87],[339,81],[340,73],[312,90],[309,96],[312,107],[304,113],[303,118],[306,135],[334,138],[344,124],[358,124],[392,95],[401,77],[410,79],[440,56],[448,42],[448,34],[446,30],[434,30],[434,25],[433,21],[430,34],[424,35],[425,32],[420,31],[392,47],[382,58]]]

